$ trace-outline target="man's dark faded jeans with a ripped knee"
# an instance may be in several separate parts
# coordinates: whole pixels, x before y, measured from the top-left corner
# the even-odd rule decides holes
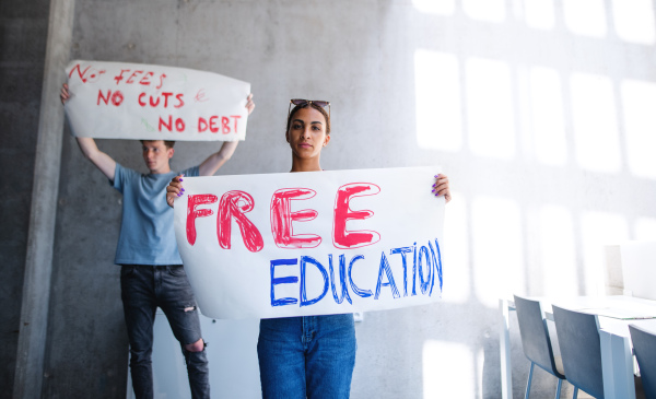
[[[130,373],[134,396],[138,399],[153,397],[151,354],[153,324],[159,306],[183,348],[191,397],[209,398],[206,351],[189,352],[184,347],[202,337],[196,300],[183,266],[124,265],[120,269],[120,291],[130,339]]]

